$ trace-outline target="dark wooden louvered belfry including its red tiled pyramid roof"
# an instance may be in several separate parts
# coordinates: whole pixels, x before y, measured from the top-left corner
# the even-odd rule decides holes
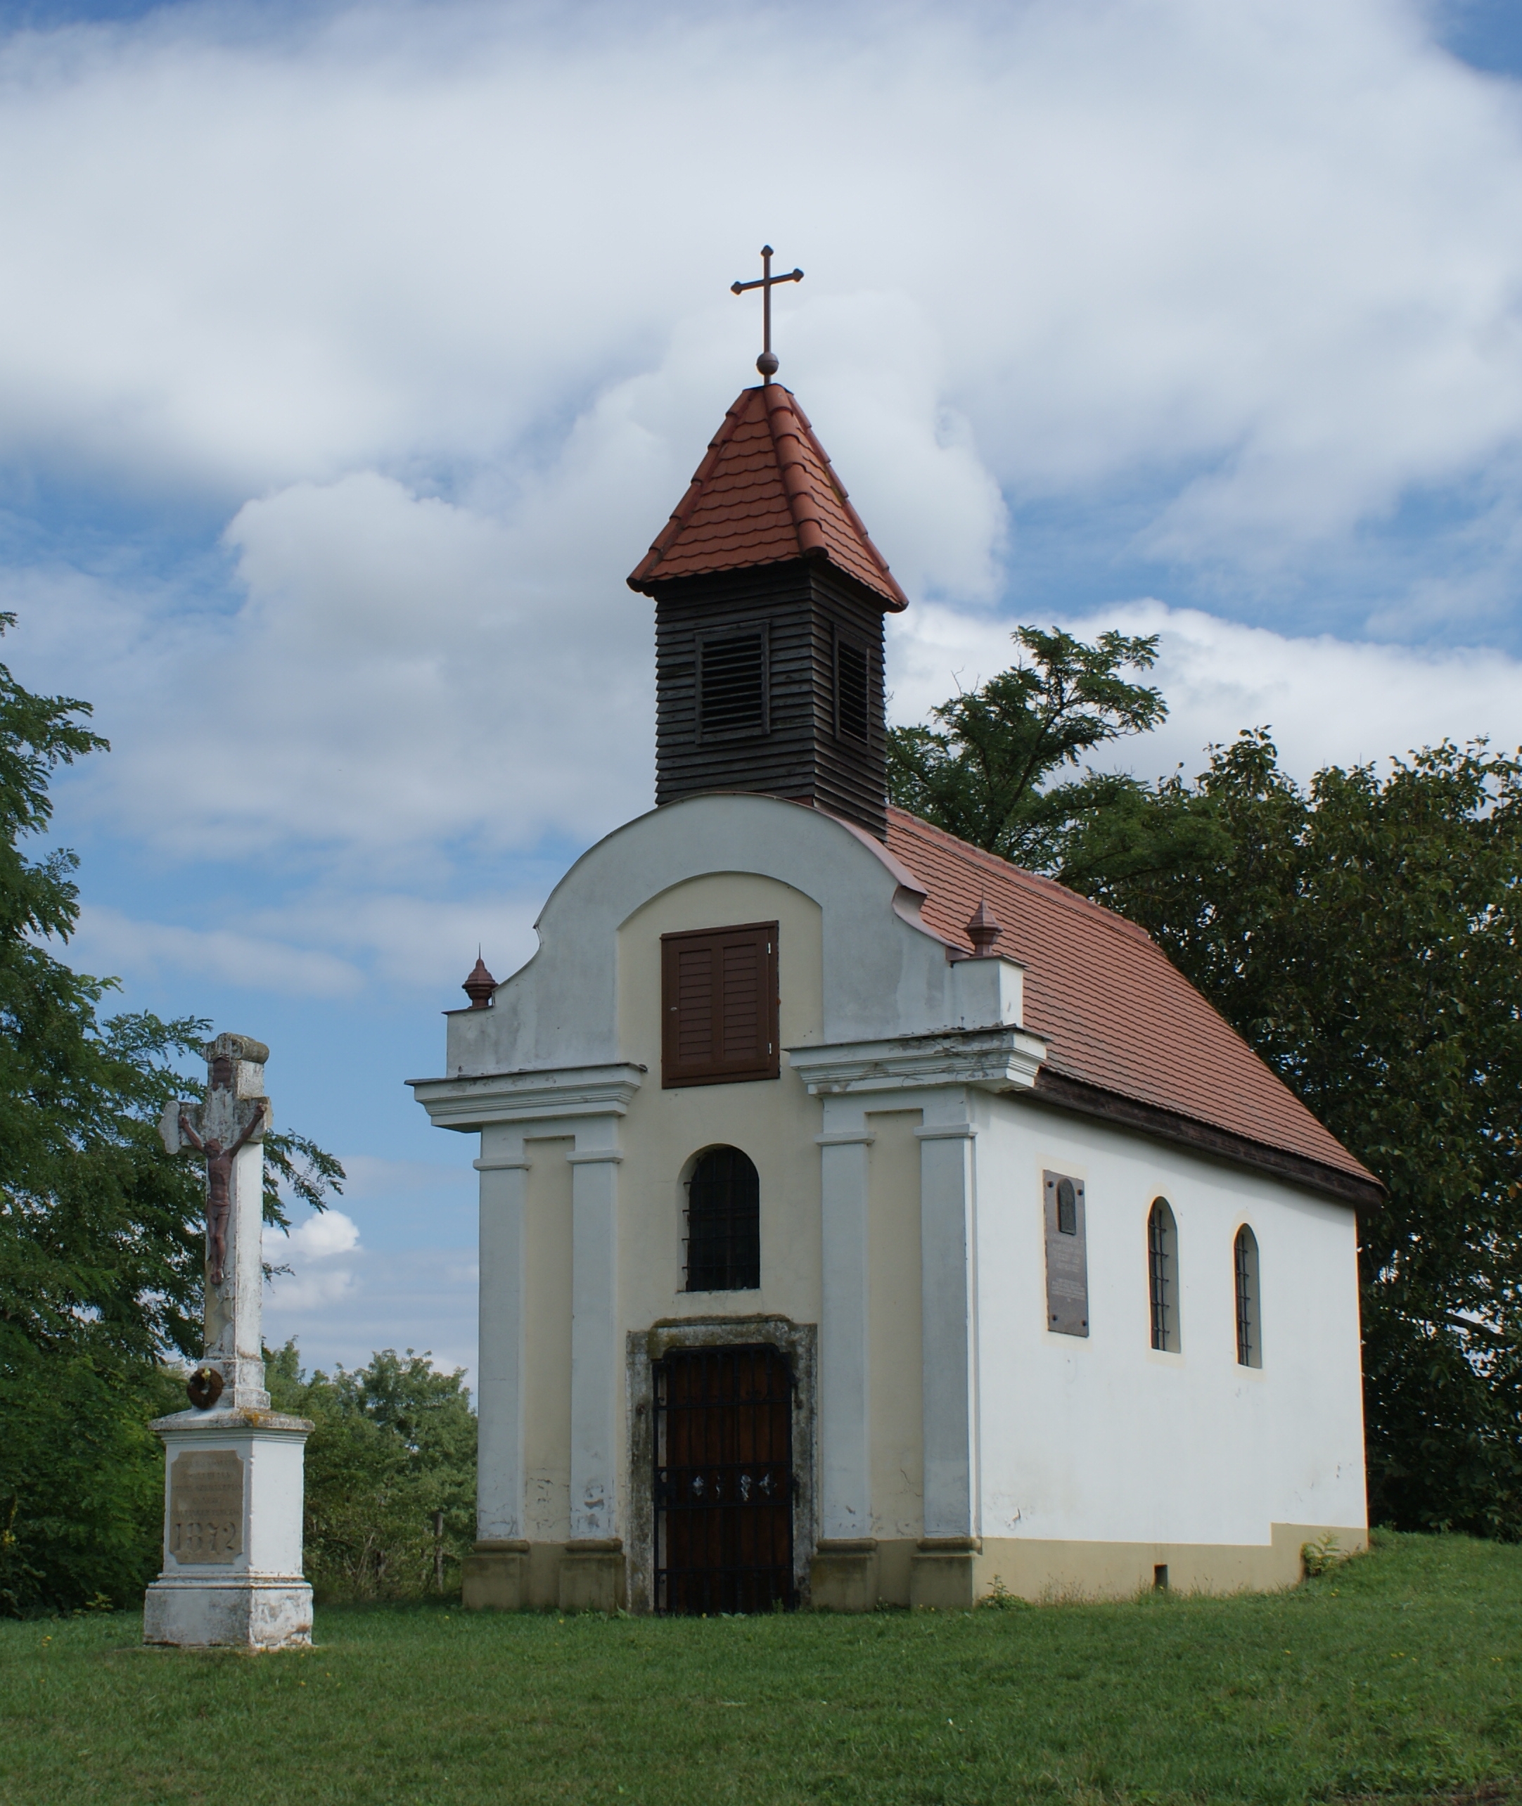
[[[628,582],[655,598],[655,802],[762,791],[883,840],[906,596],[780,383],[740,394]]]

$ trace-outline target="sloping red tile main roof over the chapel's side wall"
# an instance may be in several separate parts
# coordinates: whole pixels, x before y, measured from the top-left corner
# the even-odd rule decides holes
[[[888,851],[924,887],[921,919],[935,934],[971,950],[979,903],[998,921],[995,952],[1025,966],[1025,1028],[1047,1042],[1044,1073],[1329,1167],[1378,1196],[1378,1179],[1136,923],[903,809],[888,809]]]

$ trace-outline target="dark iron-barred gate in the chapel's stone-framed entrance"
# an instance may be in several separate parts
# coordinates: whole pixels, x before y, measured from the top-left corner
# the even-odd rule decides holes
[[[655,1609],[793,1606],[793,1373],[771,1345],[655,1364]]]

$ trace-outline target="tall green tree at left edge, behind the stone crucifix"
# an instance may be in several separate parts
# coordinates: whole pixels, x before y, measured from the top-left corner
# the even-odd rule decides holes
[[[208,1024],[101,1020],[116,981],[52,952],[79,916],[78,861],[23,851],[52,820],[56,769],[105,749],[88,715],[0,665],[0,1611],[123,1600],[152,1573],[146,1421],[162,1358],[200,1349],[202,1181],[155,1123]],[[321,1208],[341,1179],[303,1136],[265,1150],[271,1223],[285,1223],[280,1181]]]

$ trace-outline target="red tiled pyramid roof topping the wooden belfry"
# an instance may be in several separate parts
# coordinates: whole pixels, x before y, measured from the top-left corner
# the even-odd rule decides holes
[[[740,390],[628,587],[654,594],[670,578],[789,558],[821,558],[865,583],[885,609],[908,607],[809,417],[780,383],[766,383]]]

